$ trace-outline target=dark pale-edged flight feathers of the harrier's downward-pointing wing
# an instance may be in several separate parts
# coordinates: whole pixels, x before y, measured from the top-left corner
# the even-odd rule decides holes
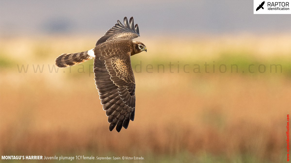
[[[103,110],[106,110],[108,116],[109,130],[112,131],[116,127],[119,132],[122,127],[128,127],[129,120],[134,120],[135,83],[127,83],[117,76],[110,63],[113,58],[105,61],[103,59],[101,55],[94,59],[95,84]]]

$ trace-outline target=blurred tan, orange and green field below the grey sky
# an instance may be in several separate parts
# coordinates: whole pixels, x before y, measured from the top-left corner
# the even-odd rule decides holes
[[[120,133],[108,129],[90,73],[93,61],[52,69],[58,55],[92,49],[98,38],[1,38],[0,155],[286,161],[290,36],[135,39],[148,52],[132,56],[136,114]]]

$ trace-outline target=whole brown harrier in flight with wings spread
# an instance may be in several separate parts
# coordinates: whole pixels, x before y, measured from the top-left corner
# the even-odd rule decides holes
[[[104,36],[100,37],[95,48],[79,52],[64,53],[56,58],[56,65],[64,68],[94,58],[94,80],[100,96],[103,110],[108,116],[109,130],[115,127],[119,132],[127,129],[129,120],[134,120],[135,80],[130,56],[147,51],[145,45],[132,39],[139,36],[139,26],[133,23],[133,17],[124,25],[117,23]]]

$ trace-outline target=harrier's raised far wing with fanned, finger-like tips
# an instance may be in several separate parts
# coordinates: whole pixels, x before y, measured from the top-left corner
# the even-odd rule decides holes
[[[117,23],[98,39],[95,46],[115,38],[132,40],[139,36],[139,26],[137,24],[134,26],[133,17],[129,19],[129,23],[127,17],[124,17],[123,22],[124,25],[117,20]]]

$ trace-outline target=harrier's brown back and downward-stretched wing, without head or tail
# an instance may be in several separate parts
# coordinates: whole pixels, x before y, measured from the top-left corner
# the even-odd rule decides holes
[[[122,41],[122,40],[121,40]],[[135,81],[130,50],[120,40],[108,41],[94,49],[93,72],[103,110],[108,116],[109,130],[119,132],[134,120]],[[118,42],[118,43],[116,43]]]

